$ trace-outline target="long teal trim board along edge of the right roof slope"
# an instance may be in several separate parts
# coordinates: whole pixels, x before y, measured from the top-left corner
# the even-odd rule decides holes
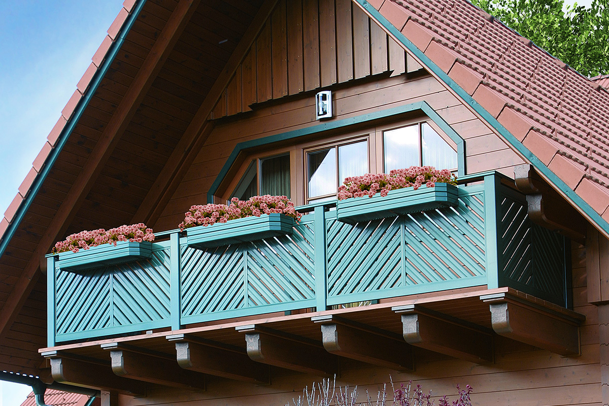
[[[403,44],[403,46],[412,53],[418,60],[421,61],[423,66],[431,71],[436,77],[438,77],[442,82],[444,82],[449,88],[451,88],[457,96],[459,96],[463,102],[469,105],[485,122],[490,124],[495,130],[501,135],[505,141],[510,144],[513,149],[515,149],[521,156],[523,156],[527,161],[532,164],[538,172],[540,172],[544,177],[546,177],[554,186],[557,187],[558,190],[563,192],[569,200],[571,200],[576,206],[582,209],[583,213],[600,229],[602,229],[605,234],[609,235],[609,223],[601,217],[594,209],[586,203],[583,198],[576,194],[576,192],[571,189],[571,187],[567,186],[567,184],[558,178],[558,176],[552,172],[547,166],[545,166],[537,156],[535,156],[532,152],[527,149],[522,142],[518,141],[515,136],[510,133],[503,125],[497,121],[495,117],[493,117],[484,107],[478,104],[473,97],[470,96],[461,86],[457,85],[454,80],[449,77],[446,72],[440,69],[435,63],[429,59],[427,55],[423,53],[420,49],[418,49],[415,44],[410,42],[406,36],[400,32],[400,30],[396,29],[393,24],[387,20],[378,10],[375,9],[373,5],[368,3],[366,0],[353,0],[359,4],[362,9],[365,10],[377,23],[384,27],[387,32],[392,35],[392,37],[396,38],[398,42]]]

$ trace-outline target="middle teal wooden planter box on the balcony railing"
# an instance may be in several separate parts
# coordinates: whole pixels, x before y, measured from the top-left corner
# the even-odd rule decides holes
[[[230,220],[211,226],[197,226],[186,229],[188,246],[204,250],[264,238],[292,234],[295,221],[284,214],[263,214],[244,219]]]

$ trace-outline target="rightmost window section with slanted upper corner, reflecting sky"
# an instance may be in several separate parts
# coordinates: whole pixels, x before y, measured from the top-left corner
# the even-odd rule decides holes
[[[384,171],[429,165],[457,169],[457,152],[426,122],[383,131]]]

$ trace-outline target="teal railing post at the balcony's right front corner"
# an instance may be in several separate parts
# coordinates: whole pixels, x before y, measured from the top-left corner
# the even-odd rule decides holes
[[[484,243],[488,289],[499,287],[499,271],[501,271],[502,262],[499,256],[499,225],[501,222],[499,186],[501,186],[501,180],[495,173],[484,177]]]

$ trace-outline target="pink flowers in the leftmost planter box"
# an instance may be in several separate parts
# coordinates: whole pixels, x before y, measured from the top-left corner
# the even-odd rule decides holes
[[[114,244],[119,241],[143,242],[154,241],[152,228],[147,228],[144,223],[124,225],[111,228],[106,231],[103,228],[93,231],[80,231],[80,233],[68,236],[64,241],[55,243],[51,251],[54,254],[72,251],[77,253],[81,248],[88,250],[102,244]]]

